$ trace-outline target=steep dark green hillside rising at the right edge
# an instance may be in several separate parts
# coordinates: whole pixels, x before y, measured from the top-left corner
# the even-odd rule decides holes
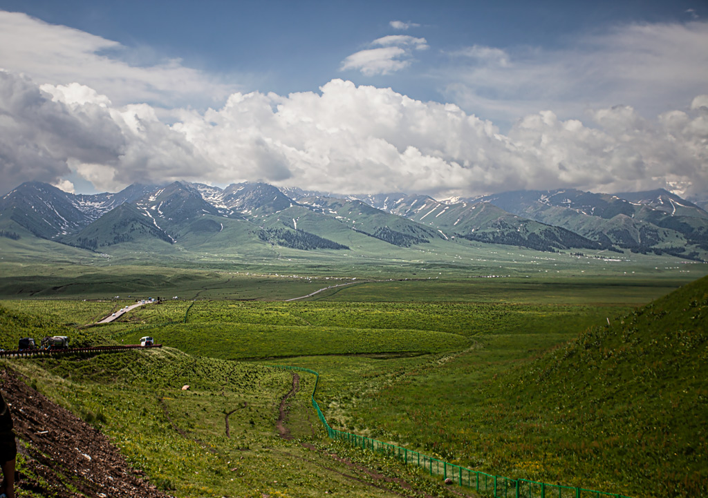
[[[639,496],[708,493],[708,279],[535,361],[502,383],[560,456]],[[502,405],[498,405],[501,407]]]

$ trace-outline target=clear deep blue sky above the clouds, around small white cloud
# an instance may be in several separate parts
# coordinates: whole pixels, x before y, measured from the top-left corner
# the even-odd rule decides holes
[[[697,1],[0,1],[0,8],[71,26],[130,47],[136,64],[181,59],[244,91],[314,91],[334,77],[443,100],[430,71],[481,45],[559,50],[627,23],[683,23],[708,16]],[[391,21],[417,24],[406,30]],[[341,71],[348,55],[380,37],[423,37],[430,46],[404,71]],[[474,112],[474,110],[469,110]]]

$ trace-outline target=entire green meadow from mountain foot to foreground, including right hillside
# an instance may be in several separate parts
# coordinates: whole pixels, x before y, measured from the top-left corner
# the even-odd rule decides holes
[[[708,284],[689,284],[705,265],[555,254],[514,267],[523,254],[499,255],[496,272],[489,261],[400,274],[9,265],[0,347],[60,334],[94,345],[152,335],[163,348],[0,368],[99,427],[178,497],[474,496],[328,439],[307,373],[283,439],[295,377],[277,366],[319,372],[331,427],[455,465],[636,498],[708,493]],[[148,296],[165,300],[94,325]]]

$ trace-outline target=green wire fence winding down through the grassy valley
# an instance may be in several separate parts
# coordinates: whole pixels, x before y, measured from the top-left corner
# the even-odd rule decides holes
[[[423,468],[430,475],[439,475],[443,479],[454,482],[457,485],[469,487],[481,493],[491,494],[494,498],[630,498],[624,494],[608,493],[602,491],[586,490],[582,487],[563,486],[548,484],[546,482],[535,482],[527,479],[511,479],[501,475],[491,475],[479,470],[470,470],[454,463],[438,460],[431,456],[423,455],[418,451],[409,450],[394,444],[384,443],[377,439],[366,436],[358,436],[350,432],[332,429],[324,418],[322,410],[314,399],[319,383],[319,373],[311,369],[304,369],[300,366],[273,365],[279,369],[296,370],[312,373],[315,376],[314,388],[312,389],[312,407],[317,412],[317,416],[322,422],[327,435],[331,439],[346,441],[353,446],[362,449],[369,449],[376,453],[383,453],[394,456],[409,465],[417,465]]]

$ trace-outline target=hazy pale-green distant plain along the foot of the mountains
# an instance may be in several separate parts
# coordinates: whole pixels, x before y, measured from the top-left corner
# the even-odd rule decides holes
[[[304,296],[332,284],[375,280],[386,296],[411,296],[408,299],[479,300],[508,299],[503,289],[525,289],[525,299],[554,299],[569,293],[561,283],[579,285],[575,291],[598,289],[598,296],[637,284],[637,303],[644,296],[641,286],[665,286],[666,291],[708,273],[708,265],[687,262],[675,257],[615,254],[601,251],[578,253],[539,253],[505,245],[460,243],[443,249],[411,248],[406,257],[394,253],[380,255],[339,254],[337,251],[302,251],[271,248],[267,255],[232,255],[222,252],[191,252],[167,247],[149,253],[130,245],[115,248],[115,253],[91,253],[68,246],[38,241],[36,253],[25,254],[32,247],[22,245],[18,252],[7,238],[0,240],[0,298],[4,299],[106,299],[113,296],[180,296],[185,299],[261,299],[282,300]],[[52,250],[45,247],[53,244]],[[12,245],[9,247],[8,245]],[[427,246],[427,245],[426,245]],[[396,292],[389,280],[430,281],[431,286],[401,284]],[[502,282],[498,294],[487,297],[485,286],[474,285],[477,279]],[[433,287],[440,280],[457,286],[457,294]],[[467,282],[470,281],[468,285]],[[546,286],[551,282],[558,286]],[[604,282],[604,283],[603,283]],[[510,283],[510,284],[507,284]],[[359,285],[352,286],[356,289]],[[493,289],[492,285],[489,289]],[[433,289],[435,299],[427,296]],[[603,291],[604,289],[604,291]],[[479,291],[481,290],[481,291]],[[409,294],[409,291],[413,291]],[[535,293],[541,291],[539,297]],[[336,299],[367,299],[369,290],[359,295],[348,288],[337,288],[317,295]],[[457,297],[459,295],[459,297]],[[577,294],[576,294],[577,295]],[[657,294],[658,295],[658,294]],[[522,301],[527,302],[527,301]]]

